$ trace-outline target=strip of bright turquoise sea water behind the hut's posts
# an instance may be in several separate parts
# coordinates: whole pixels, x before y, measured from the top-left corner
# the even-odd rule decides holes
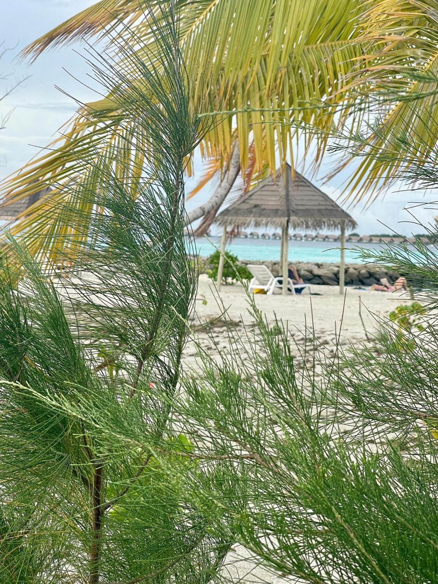
[[[210,239],[210,241],[208,241]],[[197,238],[195,240],[196,252],[206,257],[211,255],[216,248],[221,246],[220,237]],[[225,249],[237,255],[242,260],[276,261],[280,260],[279,239],[251,239],[234,238],[227,242]],[[345,262],[362,263],[359,259],[360,247],[369,249],[381,249],[379,244],[345,244]],[[339,241],[289,241],[288,260],[290,262],[328,262],[339,263]]]

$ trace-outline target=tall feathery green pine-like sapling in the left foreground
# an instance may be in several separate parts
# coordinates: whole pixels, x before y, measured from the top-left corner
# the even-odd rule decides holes
[[[62,261],[46,273],[13,239],[2,256],[2,582],[201,583],[214,580],[228,549],[156,456],[165,444],[176,474],[198,472],[180,456],[190,444],[169,416],[196,291],[183,169],[206,126],[190,113],[173,2],[164,8],[160,77],[123,41],[138,84],[94,61],[147,140],[130,175],[98,158],[74,185],[77,199],[59,217],[86,224],[88,245],[75,231],[55,239]],[[148,446],[128,438],[137,432]]]

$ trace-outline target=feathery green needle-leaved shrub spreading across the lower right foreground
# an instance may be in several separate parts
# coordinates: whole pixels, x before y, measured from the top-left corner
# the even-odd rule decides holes
[[[424,251],[436,280],[438,258]],[[401,253],[402,266],[424,279],[425,262]],[[428,305],[438,307],[433,295]],[[429,308],[396,309],[366,346],[300,346],[296,359],[287,328],[269,326],[251,303],[255,329],[242,340],[230,327],[219,359],[202,354],[185,380],[191,454],[201,465],[228,461],[230,484],[245,486],[231,500],[193,485],[197,505],[222,527],[227,509],[230,537],[293,581],[436,581],[438,326]]]

